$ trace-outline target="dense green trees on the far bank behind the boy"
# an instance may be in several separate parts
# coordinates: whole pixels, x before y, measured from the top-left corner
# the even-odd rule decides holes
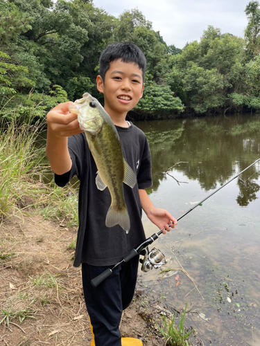
[[[44,117],[59,102],[96,91],[98,58],[133,42],[147,58],[144,97],[133,118],[260,109],[260,8],[245,8],[245,37],[209,26],[200,42],[167,46],[137,9],[119,18],[92,0],[0,0],[1,118]]]

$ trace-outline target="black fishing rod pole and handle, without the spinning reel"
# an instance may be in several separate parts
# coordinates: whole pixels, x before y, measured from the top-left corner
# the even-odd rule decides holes
[[[257,161],[254,161],[254,163],[252,163],[251,165],[249,165],[248,167],[245,168],[245,170],[241,171],[239,174],[236,174],[236,176],[234,176],[232,179],[230,179],[229,181],[227,181],[227,183],[225,183],[224,185],[220,186],[220,188],[216,189],[214,192],[212,192],[211,194],[209,194],[209,196],[205,197],[205,199],[202,199],[202,201],[198,202],[195,206],[193,206],[191,209],[187,210],[187,212],[184,212],[184,214],[182,214],[182,216],[180,216],[177,221],[179,221],[180,219],[182,219],[182,217],[184,217],[185,215],[189,214],[189,212],[191,212],[191,210],[195,209],[196,207],[200,206],[201,203],[203,203],[204,201],[206,201],[206,199],[209,199],[209,197],[211,197],[213,194],[216,194],[216,192],[218,192],[220,189],[224,188],[225,185],[229,184],[231,181],[233,181],[234,179],[236,179],[240,174],[242,174],[243,172],[245,172],[246,170],[248,170],[248,168],[252,167],[252,165],[255,165],[255,163],[257,163],[258,161],[260,161],[260,158],[258,158]],[[162,230],[159,230],[158,233],[154,233],[153,235],[151,235],[149,238],[147,238],[143,243],[139,244],[136,248],[133,248],[130,253],[128,253],[127,255],[125,255],[125,257],[123,258],[123,260],[121,260],[120,262],[118,262],[117,264],[115,264],[112,268],[107,268],[105,271],[103,271],[103,273],[101,273],[100,275],[94,277],[94,279],[91,280],[91,284],[92,286],[96,287],[98,286],[98,284],[100,284],[103,280],[105,280],[107,277],[109,277],[112,272],[114,271],[115,268],[117,268],[118,266],[121,266],[121,264],[130,261],[133,257],[135,257],[136,255],[140,255],[141,251],[144,250],[144,248],[146,248],[148,245],[152,244],[156,239],[159,238],[159,235],[162,234],[163,230],[165,228],[162,228]]]

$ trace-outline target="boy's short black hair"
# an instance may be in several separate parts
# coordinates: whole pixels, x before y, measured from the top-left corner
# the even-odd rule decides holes
[[[128,42],[110,44],[101,53],[99,58],[99,74],[105,83],[105,73],[110,68],[110,63],[121,59],[123,62],[135,62],[142,71],[143,82],[146,74],[146,57],[139,47]]]

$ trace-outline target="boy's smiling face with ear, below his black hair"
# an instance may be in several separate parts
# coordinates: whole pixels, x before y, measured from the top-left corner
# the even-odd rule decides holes
[[[126,116],[143,95],[143,75],[134,62],[114,60],[105,73],[105,83],[100,75],[96,79],[98,91],[104,94],[105,111]]]

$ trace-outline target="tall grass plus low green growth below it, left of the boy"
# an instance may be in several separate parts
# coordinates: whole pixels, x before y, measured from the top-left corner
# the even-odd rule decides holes
[[[76,226],[76,189],[43,183],[50,167],[44,162],[41,131],[37,125],[0,123],[0,221],[14,214],[22,217],[28,206],[34,206],[45,219]]]

